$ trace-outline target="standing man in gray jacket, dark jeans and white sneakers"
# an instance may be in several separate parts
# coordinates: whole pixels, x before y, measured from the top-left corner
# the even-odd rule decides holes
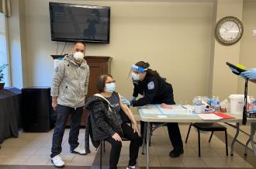
[[[65,56],[54,70],[50,95],[52,96],[52,106],[57,111],[57,121],[50,157],[55,167],[64,167],[60,153],[69,116],[71,116],[71,129],[68,143],[71,153],[85,154],[85,149],[78,147],[81,114],[85,105],[89,79],[89,67],[84,57],[85,44],[75,42],[71,54]]]

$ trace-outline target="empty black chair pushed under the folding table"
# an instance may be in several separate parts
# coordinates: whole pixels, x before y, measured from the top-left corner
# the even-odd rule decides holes
[[[206,132],[212,132],[211,136],[209,137],[209,143],[212,140],[213,132],[216,131],[223,131],[225,132],[225,142],[226,142],[226,155],[228,156],[228,150],[227,150],[227,127],[217,123],[217,122],[192,122],[189,126],[189,131],[187,133],[187,137],[185,139],[185,143],[188,142],[189,139],[189,132],[191,129],[191,126],[194,126],[197,129],[198,133],[198,141],[199,141],[199,157],[201,157],[201,150],[200,150],[200,131],[206,131]]]

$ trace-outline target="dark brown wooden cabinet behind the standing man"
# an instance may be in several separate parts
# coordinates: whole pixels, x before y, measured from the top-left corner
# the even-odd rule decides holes
[[[54,59],[59,57],[64,57],[64,55],[51,55]],[[111,74],[111,60],[112,57],[92,57],[86,56],[85,60],[87,61],[88,66],[90,67],[90,77],[88,85],[88,94],[86,98],[98,93],[96,88],[96,83],[99,80],[99,76],[102,74]],[[87,123],[87,112],[84,110],[81,116],[81,126],[86,126]],[[70,126],[70,119],[67,121],[67,126]]]

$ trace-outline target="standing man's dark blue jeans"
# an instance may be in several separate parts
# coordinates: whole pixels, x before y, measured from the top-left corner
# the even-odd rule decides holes
[[[55,123],[50,157],[55,157],[61,153],[61,143],[69,116],[71,116],[71,129],[69,131],[68,143],[71,146],[71,150],[78,147],[78,135],[82,112],[83,107],[74,109],[64,105],[57,105],[57,121]]]

